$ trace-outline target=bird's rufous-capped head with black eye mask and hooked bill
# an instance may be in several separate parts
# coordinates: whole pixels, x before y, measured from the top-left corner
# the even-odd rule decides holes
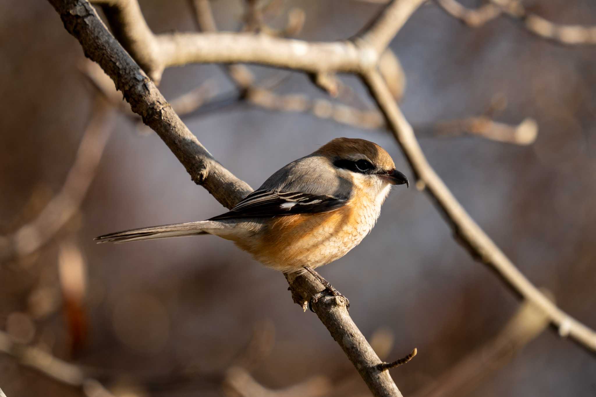
[[[390,185],[406,185],[408,178],[395,169],[393,159],[376,143],[365,139],[336,138],[315,152],[327,158],[340,176],[375,196],[389,193]]]

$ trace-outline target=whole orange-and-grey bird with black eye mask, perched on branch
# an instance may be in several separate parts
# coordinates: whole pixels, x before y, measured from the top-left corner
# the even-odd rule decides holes
[[[313,269],[358,245],[373,229],[391,186],[403,184],[409,186],[408,179],[381,146],[337,138],[285,165],[225,214],[110,233],[96,240],[123,243],[216,235],[232,240],[267,267],[284,273],[306,269],[337,293]]]

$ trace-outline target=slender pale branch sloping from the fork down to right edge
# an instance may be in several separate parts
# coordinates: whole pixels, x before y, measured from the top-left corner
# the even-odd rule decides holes
[[[514,292],[547,313],[551,323],[558,327],[561,336],[570,336],[592,351],[596,351],[596,333],[560,310],[557,305],[553,304],[533,286],[491,238],[480,229],[470,215],[465,212],[448,187],[445,186],[445,183],[434,172],[426,157],[424,157],[414,136],[414,130],[403,117],[380,74],[371,71],[365,74],[363,79],[387,118],[393,135],[398,140],[403,153],[416,173],[418,178],[416,187],[420,190],[426,189],[426,192],[433,198],[433,201],[436,202],[438,208],[445,215],[445,219],[454,230],[457,240],[470,251],[474,258],[497,271]]]

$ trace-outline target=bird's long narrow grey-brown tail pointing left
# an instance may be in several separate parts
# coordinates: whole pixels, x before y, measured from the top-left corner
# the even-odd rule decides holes
[[[169,237],[208,235],[210,234],[210,231],[215,232],[215,230],[221,230],[221,228],[222,225],[215,221],[175,223],[109,233],[107,235],[95,237],[95,240],[97,240],[98,243],[126,243],[139,240],[167,239]]]

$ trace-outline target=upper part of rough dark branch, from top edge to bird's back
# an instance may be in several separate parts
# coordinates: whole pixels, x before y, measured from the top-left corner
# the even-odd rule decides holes
[[[205,187],[227,208],[244,198],[252,189],[222,167],[182,123],[154,83],[145,76],[125,49],[101,22],[86,1],[51,0],[60,12],[66,29],[83,46],[85,55],[100,64],[116,83],[132,110],[159,135],[178,160],[187,168],[191,179]]]

